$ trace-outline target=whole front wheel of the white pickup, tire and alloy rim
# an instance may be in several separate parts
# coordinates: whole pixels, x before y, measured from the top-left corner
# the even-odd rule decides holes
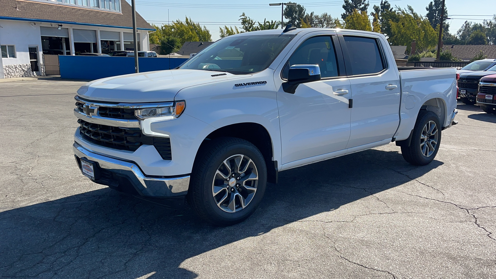
[[[195,160],[188,201],[207,222],[233,225],[255,211],[266,184],[267,167],[255,145],[238,138],[213,139]]]

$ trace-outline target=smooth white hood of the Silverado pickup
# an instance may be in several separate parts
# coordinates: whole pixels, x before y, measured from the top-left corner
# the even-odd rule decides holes
[[[77,95],[91,101],[152,103],[173,101],[179,90],[210,82],[237,79],[236,75],[210,70],[160,70],[97,79],[77,90]]]

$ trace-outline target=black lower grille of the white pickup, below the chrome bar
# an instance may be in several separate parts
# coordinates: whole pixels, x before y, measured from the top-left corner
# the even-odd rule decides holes
[[[171,140],[143,135],[139,128],[120,128],[78,119],[80,134],[94,144],[120,150],[136,151],[143,144],[153,145],[164,160],[172,160]]]

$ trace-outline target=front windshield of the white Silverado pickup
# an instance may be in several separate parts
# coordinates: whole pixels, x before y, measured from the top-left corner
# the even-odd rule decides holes
[[[247,74],[267,69],[295,35],[226,37],[211,44],[179,69]]]

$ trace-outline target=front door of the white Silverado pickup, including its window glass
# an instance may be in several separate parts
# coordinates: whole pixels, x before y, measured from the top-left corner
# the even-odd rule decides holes
[[[298,85],[294,94],[277,92],[282,164],[346,148],[351,88],[349,79],[340,77],[333,41],[332,36],[307,39],[282,70],[284,80],[291,65],[319,65],[322,78]]]

